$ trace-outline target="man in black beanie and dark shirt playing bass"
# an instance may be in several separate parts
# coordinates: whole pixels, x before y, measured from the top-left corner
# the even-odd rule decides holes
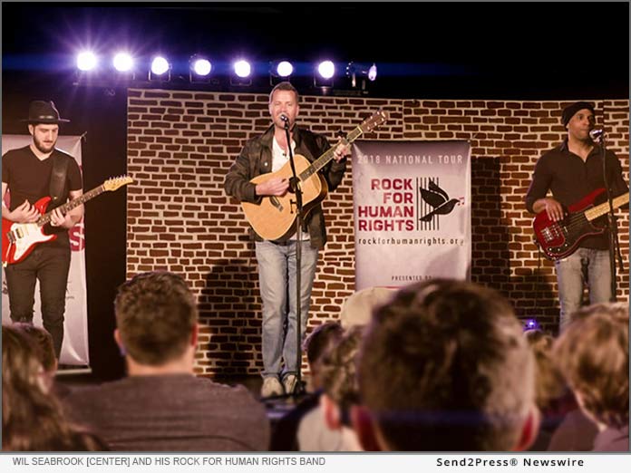
[[[590,193],[605,188],[606,181],[612,197],[628,194],[628,187],[622,177],[619,159],[609,150],[606,151],[607,179],[603,176],[602,149],[590,134],[595,127],[594,106],[591,103],[572,103],[563,110],[561,122],[568,130],[568,136],[537,161],[526,195],[526,208],[536,214],[545,212],[547,220],[559,224],[558,237],[569,241],[569,233],[583,223],[578,220],[574,223],[573,220],[572,225],[568,225],[568,211],[572,213],[579,207],[590,207],[590,202],[587,202],[592,196]],[[547,197],[548,191],[552,197]],[[606,198],[607,193],[603,192],[595,198],[596,203]],[[556,238],[556,231],[551,227],[548,237]],[[566,245],[568,247],[562,252],[559,249],[558,258],[553,257],[556,259],[561,331],[569,322],[569,316],[580,307],[584,284],[589,288],[590,304],[609,302],[612,295],[607,232],[573,236],[573,240],[574,243]],[[547,255],[550,256],[549,253]]]

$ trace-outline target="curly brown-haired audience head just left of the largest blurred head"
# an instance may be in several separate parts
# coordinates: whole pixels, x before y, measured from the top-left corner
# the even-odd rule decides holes
[[[330,429],[339,429],[343,424],[350,427],[350,408],[359,401],[356,362],[363,335],[364,326],[349,328],[321,358],[322,399]]]

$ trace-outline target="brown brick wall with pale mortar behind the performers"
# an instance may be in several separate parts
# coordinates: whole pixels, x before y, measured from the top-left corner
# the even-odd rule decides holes
[[[553,330],[554,266],[543,258],[539,268],[523,198],[540,153],[564,136],[559,115],[568,103],[305,96],[300,121],[334,140],[381,107],[391,118],[366,138],[470,140],[472,279],[500,289],[520,317],[536,316]],[[629,102],[596,105],[628,181]],[[128,275],[168,269],[187,278],[199,297],[199,374],[259,372],[256,257],[241,208],[222,186],[244,141],[267,129],[267,95],[130,90],[128,113],[128,170],[136,179],[128,188]],[[309,326],[335,319],[354,292],[352,172],[323,203],[330,241]],[[618,215],[626,265],[619,295],[628,301],[628,212]]]

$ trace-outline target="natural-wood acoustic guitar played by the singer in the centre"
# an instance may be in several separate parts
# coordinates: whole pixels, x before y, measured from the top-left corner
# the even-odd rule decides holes
[[[343,144],[350,144],[368,131],[373,130],[388,119],[386,111],[376,111],[374,114],[362,122],[348,136],[341,140]],[[311,209],[321,202],[328,192],[325,178],[318,172],[334,158],[335,147],[326,150],[325,153],[314,162],[310,162],[304,156],[296,154],[294,162],[296,164],[296,176],[298,186],[303,192],[303,211],[307,215]],[[290,179],[293,177],[291,163],[276,172],[261,174],[251,179],[252,184],[265,182],[267,179],[281,178]],[[296,220],[296,197],[290,192],[283,196],[264,196],[260,203],[241,202],[241,208],[248,218],[249,224],[257,234],[266,240],[277,240],[283,236],[291,235],[295,230]]]

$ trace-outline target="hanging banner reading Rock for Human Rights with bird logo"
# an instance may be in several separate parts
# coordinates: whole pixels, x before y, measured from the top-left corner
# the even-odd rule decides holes
[[[471,273],[468,141],[353,145],[355,291]]]

